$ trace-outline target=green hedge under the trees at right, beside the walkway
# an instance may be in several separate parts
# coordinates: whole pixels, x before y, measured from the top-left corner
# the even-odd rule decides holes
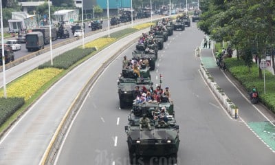
[[[263,79],[259,78],[259,68],[256,64],[252,65],[250,72],[243,60],[237,58],[226,58],[226,67],[228,71],[238,80],[246,91],[250,92],[252,86],[259,91],[259,98],[265,106],[275,113],[275,76],[270,72],[265,72],[265,91]]]

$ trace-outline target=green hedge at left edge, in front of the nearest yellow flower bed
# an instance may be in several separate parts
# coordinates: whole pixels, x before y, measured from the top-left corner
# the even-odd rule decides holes
[[[24,98],[0,98],[0,125],[25,104]]]

